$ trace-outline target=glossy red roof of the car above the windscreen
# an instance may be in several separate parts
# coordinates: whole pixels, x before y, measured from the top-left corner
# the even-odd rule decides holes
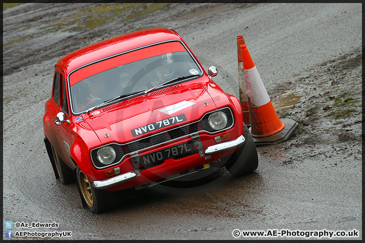
[[[139,30],[106,39],[105,41],[71,52],[62,57],[56,66],[61,67],[69,74],[71,71],[94,61],[171,39],[179,39],[182,41],[180,35],[172,29],[154,28]]]

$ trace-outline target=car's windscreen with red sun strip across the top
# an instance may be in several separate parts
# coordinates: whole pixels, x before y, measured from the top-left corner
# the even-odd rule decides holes
[[[197,63],[180,42],[142,48],[71,73],[71,108],[80,113],[114,97],[200,74]]]

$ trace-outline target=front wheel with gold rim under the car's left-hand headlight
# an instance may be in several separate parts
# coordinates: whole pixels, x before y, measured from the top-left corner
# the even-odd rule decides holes
[[[108,191],[95,189],[92,182],[79,167],[76,169],[76,177],[84,207],[88,207],[94,214],[105,212],[111,208],[111,205],[109,205],[110,193]]]

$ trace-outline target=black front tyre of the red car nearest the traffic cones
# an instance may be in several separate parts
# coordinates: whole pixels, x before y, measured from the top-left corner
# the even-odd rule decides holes
[[[229,158],[225,167],[233,176],[242,176],[256,170],[259,165],[256,145],[248,128],[243,124],[243,136],[246,142]]]

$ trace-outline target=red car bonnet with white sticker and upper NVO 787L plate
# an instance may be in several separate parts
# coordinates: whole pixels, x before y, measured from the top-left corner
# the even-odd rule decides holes
[[[191,123],[216,106],[202,83],[189,83],[102,107],[84,119],[102,144],[127,143]]]

